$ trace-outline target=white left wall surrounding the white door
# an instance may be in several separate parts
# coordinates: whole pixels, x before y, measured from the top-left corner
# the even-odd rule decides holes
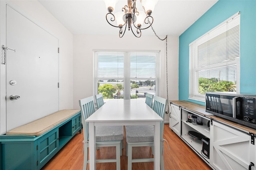
[[[58,38],[60,47],[59,110],[73,109],[73,35],[38,1],[0,1],[0,45],[5,45],[5,6],[10,4],[24,16]],[[2,48],[1,48],[2,49]],[[1,50],[2,53],[2,50]],[[0,134],[6,133],[6,65],[0,64]],[[24,118],[25,119],[25,118]]]

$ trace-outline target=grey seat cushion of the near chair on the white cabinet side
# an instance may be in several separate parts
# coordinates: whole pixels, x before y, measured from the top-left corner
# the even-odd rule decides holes
[[[126,142],[153,142],[154,126],[125,126]]]

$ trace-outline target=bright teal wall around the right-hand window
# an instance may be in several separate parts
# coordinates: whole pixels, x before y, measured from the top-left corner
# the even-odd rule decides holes
[[[256,0],[219,0],[180,35],[179,100],[188,99],[189,44],[240,11],[240,93],[256,93]]]

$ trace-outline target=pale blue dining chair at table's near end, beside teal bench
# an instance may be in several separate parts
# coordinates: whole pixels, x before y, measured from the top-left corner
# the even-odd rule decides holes
[[[84,132],[84,167],[86,170],[88,160],[88,148],[89,148],[89,123],[85,120],[95,112],[93,96],[79,100],[79,105],[82,115],[82,125]],[[116,147],[116,159],[102,159],[96,160],[99,162],[116,162],[116,170],[120,170],[120,156],[122,150],[120,150],[121,141],[124,138],[124,128],[118,126],[97,126],[96,127],[96,147]]]

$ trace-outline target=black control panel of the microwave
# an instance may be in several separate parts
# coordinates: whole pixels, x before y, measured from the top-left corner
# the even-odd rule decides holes
[[[256,124],[256,98],[243,97],[243,119]]]

